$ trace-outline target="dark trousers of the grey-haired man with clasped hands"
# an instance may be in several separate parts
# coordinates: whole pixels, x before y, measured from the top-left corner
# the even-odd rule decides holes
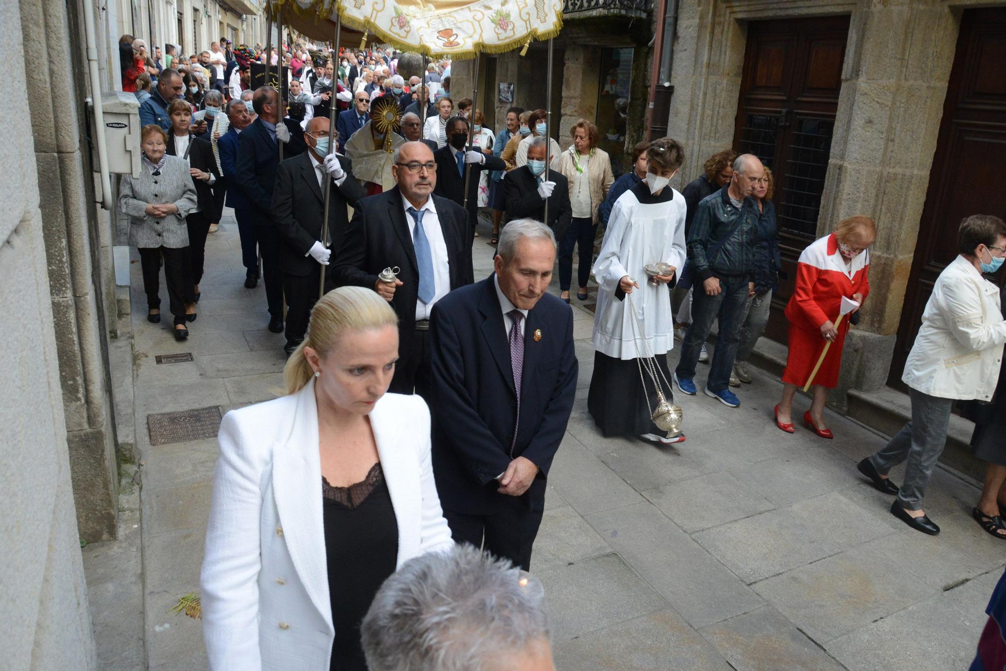
[[[466,515],[445,508],[444,518],[451,527],[451,536],[456,543],[471,543],[529,571],[531,547],[541,526],[544,506],[537,506],[539,510],[529,509],[526,494],[499,496],[500,505],[491,515]]]

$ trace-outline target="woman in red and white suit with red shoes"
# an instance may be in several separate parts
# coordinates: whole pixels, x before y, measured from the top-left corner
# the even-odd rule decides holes
[[[776,406],[776,424],[793,433],[793,396],[807,384],[826,343],[831,342],[817,375],[814,400],[804,413],[804,426],[824,438],[832,438],[824,425],[828,390],[838,383],[842,346],[849,330],[848,317],[835,327],[842,296],[860,305],[870,292],[867,280],[870,255],[867,248],[876,238],[877,227],[868,217],[856,216],[839,222],[835,233],[814,241],[797,262],[797,286],[786,306],[790,320],[790,354],[783,371],[783,400]],[[856,308],[859,309],[858,307]],[[855,310],[853,310],[855,311]]]

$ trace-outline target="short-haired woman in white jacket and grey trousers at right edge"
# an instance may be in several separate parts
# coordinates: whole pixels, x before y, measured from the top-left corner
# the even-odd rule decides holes
[[[876,489],[897,495],[891,515],[930,535],[940,533],[940,527],[923,510],[923,498],[947,441],[954,401],[992,400],[1006,343],[999,288],[983,277],[1003,265],[1006,224],[990,215],[966,218],[957,234],[957,251],[933,285],[923,325],[904,362],[901,382],[908,385],[911,420],[858,466]],[[902,461],[907,467],[897,487],[887,474]],[[997,515],[979,508],[972,515],[987,532],[1001,536]]]

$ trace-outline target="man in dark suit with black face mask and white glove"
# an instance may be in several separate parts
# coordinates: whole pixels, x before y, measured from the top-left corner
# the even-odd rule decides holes
[[[502,158],[469,148],[468,121],[463,117],[452,117],[447,121],[447,145],[434,152],[437,161],[437,188],[434,193],[451,198],[468,209],[470,235],[475,238],[475,225],[479,221],[479,177],[483,170],[505,170]],[[468,202],[465,202],[465,177],[468,178]],[[471,244],[471,243],[470,243]]]

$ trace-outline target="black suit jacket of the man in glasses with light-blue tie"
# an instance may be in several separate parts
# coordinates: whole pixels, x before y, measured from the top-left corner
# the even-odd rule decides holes
[[[461,206],[431,195],[444,231],[451,289],[471,284],[472,246],[468,222]],[[411,229],[405,221],[401,191],[397,187],[362,198],[346,229],[339,258],[333,270],[336,286],[354,285],[372,289],[377,275],[388,266],[398,266],[402,285],[394,292],[391,306],[398,314],[399,352],[408,352],[415,333],[415,301],[420,290],[418,264],[412,247]]]

